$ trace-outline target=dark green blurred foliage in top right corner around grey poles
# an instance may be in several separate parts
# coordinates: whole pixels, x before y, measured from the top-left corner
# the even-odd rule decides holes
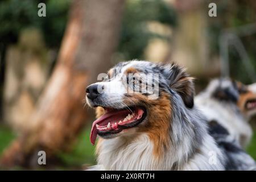
[[[237,30],[238,27],[247,24],[256,23],[256,1],[207,1],[215,2],[217,5],[217,17],[208,18],[208,39],[210,40],[210,54],[218,55],[220,53],[219,38],[226,28]],[[249,31],[249,30],[248,30]],[[256,32],[251,35],[240,36],[243,46],[250,58],[251,64],[254,65],[256,72]],[[229,47],[230,76],[240,80],[245,84],[251,83],[242,58],[234,46]]]

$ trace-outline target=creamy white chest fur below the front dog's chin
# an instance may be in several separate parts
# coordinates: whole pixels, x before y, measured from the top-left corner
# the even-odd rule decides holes
[[[163,169],[153,156],[153,145],[147,135],[140,135],[133,142],[121,137],[103,140],[97,162],[105,170]]]

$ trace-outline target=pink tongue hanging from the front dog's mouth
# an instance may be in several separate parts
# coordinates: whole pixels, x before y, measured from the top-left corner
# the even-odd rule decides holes
[[[90,143],[94,145],[95,140],[97,138],[97,129],[96,129],[96,124],[100,124],[101,122],[104,122],[106,119],[112,118],[116,115],[124,115],[126,116],[129,114],[129,110],[120,110],[120,111],[109,111],[108,113],[102,115],[100,118],[98,118],[96,121],[93,122],[92,124],[92,130],[90,131]]]

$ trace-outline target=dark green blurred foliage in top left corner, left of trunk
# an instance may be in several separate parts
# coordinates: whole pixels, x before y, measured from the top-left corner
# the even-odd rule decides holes
[[[38,4],[46,3],[46,17],[38,16]],[[64,34],[71,0],[3,0],[0,2],[0,43],[18,40],[24,28],[42,31],[48,47],[59,47]]]

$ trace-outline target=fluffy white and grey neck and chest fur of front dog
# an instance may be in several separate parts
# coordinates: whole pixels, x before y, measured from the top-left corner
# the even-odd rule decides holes
[[[174,102],[175,104],[175,102]],[[97,162],[100,169],[106,170],[217,170],[224,169],[221,164],[222,153],[213,138],[207,133],[196,109],[177,109],[172,115],[170,129],[171,146],[162,155],[154,155],[154,144],[146,133],[101,139],[97,146]],[[175,107],[174,107],[175,108]],[[188,114],[190,113],[190,114]],[[191,117],[193,116],[193,117]],[[186,126],[184,126],[186,125]],[[212,164],[210,152],[217,158]]]

